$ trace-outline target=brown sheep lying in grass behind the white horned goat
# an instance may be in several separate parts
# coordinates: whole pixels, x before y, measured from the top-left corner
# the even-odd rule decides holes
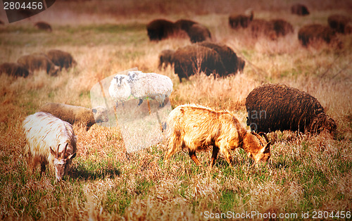
[[[96,122],[108,121],[108,110],[102,106],[89,109],[64,103],[46,103],[39,111],[51,113],[70,124],[81,125],[89,130]]]

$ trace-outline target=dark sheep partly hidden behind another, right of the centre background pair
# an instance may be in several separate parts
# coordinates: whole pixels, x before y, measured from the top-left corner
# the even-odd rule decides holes
[[[239,58],[229,46],[211,42],[201,42],[198,44],[218,52],[228,74],[236,73],[239,70]]]

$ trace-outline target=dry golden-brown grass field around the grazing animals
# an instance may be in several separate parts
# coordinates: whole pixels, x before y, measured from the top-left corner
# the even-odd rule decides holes
[[[36,72],[27,78],[0,76],[0,218],[2,220],[207,220],[220,213],[307,214],[329,218],[352,212],[352,38],[342,47],[303,48],[299,27],[327,25],[332,13],[351,14],[351,1],[308,1],[311,14],[289,13],[296,1],[58,1],[30,19],[0,25],[0,63],[27,53],[61,49],[78,65],[58,77]],[[319,2],[319,3],[318,3]],[[231,30],[227,18],[253,8],[255,18],[284,18],[294,34],[271,41]],[[158,70],[158,53],[190,44],[172,38],[149,42],[146,23],[155,18],[188,18],[206,25],[216,42],[246,60],[244,73],[213,79],[196,75],[180,83],[172,68]],[[1,20],[6,20],[4,11]],[[53,32],[36,30],[45,20]],[[337,138],[296,132],[268,134],[271,158],[255,165],[242,149],[232,152],[234,167],[211,153],[198,153],[196,166],[180,151],[164,163],[165,142],[125,154],[118,127],[74,126],[77,157],[63,182],[53,170],[39,180],[23,156],[21,124],[46,102],[91,107],[90,89],[99,80],[137,67],[171,78],[172,108],[199,103],[232,111],[246,126],[244,102],[263,83],[284,83],[307,91],[337,122]],[[249,130],[249,127],[246,127]],[[325,212],[325,213],[324,213]],[[212,215],[212,216],[210,216]],[[236,217],[236,216],[234,216]],[[320,218],[322,218],[320,217]],[[351,216],[350,216],[351,217]],[[222,217],[224,218],[224,217]],[[260,218],[253,216],[252,218]],[[349,218],[351,219],[351,218]]]

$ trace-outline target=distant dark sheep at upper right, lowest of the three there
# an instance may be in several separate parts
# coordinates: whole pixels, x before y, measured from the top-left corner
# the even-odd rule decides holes
[[[298,39],[303,46],[308,46],[315,40],[322,39],[328,44],[335,37],[336,32],[325,25],[313,24],[301,27],[298,30]]]

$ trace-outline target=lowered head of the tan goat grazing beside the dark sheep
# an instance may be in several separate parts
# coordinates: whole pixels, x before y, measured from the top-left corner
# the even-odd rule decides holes
[[[262,134],[262,133],[260,133]],[[270,158],[270,144],[268,137],[263,133],[265,139],[255,132],[246,132],[243,145],[248,156],[256,163],[267,162]]]

